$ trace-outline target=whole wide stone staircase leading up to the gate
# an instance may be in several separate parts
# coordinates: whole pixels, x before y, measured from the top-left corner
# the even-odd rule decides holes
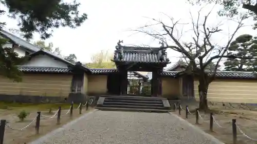
[[[168,112],[167,98],[139,96],[100,96],[96,109],[138,112]]]

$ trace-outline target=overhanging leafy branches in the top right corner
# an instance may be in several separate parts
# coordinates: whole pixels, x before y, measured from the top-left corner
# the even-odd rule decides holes
[[[200,4],[219,4],[223,9],[218,11],[220,16],[234,17],[235,15],[254,15],[253,20],[257,21],[257,1],[256,0],[188,0],[193,5]],[[240,8],[248,10],[247,12],[240,12]],[[257,28],[257,22],[253,26]]]

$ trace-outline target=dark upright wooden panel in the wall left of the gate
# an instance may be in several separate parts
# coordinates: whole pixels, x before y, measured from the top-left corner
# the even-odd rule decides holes
[[[83,74],[76,74],[72,77],[71,92],[81,93],[83,90]]]

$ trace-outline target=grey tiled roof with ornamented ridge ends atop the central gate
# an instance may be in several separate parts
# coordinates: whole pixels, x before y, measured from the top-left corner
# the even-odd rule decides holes
[[[113,61],[138,62],[138,63],[169,63],[166,49],[151,47],[116,46]]]

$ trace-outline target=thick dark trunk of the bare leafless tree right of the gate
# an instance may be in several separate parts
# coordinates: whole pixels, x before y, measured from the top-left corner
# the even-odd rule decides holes
[[[199,109],[200,110],[207,110],[208,103],[207,103],[207,91],[208,91],[209,84],[206,81],[199,80],[198,85],[198,93],[199,93]]]

